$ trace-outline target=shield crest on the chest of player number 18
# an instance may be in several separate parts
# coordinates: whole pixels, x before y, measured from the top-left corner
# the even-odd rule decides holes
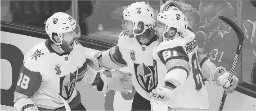
[[[77,70],[74,73],[69,73],[67,76],[60,77],[60,90],[59,95],[65,100],[69,100],[76,85]]]

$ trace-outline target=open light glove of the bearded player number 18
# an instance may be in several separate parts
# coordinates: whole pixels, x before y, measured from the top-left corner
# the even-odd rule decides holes
[[[102,92],[108,93],[109,90],[120,91],[129,94],[128,90],[134,90],[132,84],[132,75],[128,72],[116,71],[103,71],[100,75],[104,82]]]

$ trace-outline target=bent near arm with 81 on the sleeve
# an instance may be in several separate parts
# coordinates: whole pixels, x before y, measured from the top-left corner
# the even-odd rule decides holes
[[[159,58],[166,65],[167,74],[164,79],[165,87],[173,90],[183,85],[190,74],[189,56],[183,47],[173,47],[159,51]]]

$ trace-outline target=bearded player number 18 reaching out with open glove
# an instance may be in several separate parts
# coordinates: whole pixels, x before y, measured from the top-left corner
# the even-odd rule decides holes
[[[85,49],[76,41],[80,27],[71,16],[54,13],[45,30],[50,39],[35,45],[21,67],[13,100],[18,111],[85,111],[76,82],[93,85],[104,94],[133,89],[129,73],[100,73],[85,63]]]

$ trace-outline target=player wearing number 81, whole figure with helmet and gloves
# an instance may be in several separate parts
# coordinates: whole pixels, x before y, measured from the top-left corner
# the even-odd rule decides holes
[[[187,19],[178,8],[157,15],[154,30],[160,38],[153,51],[153,61],[157,75],[165,76],[165,84],[152,91],[153,111],[209,110],[202,74],[211,84],[216,82],[225,86],[227,93],[234,92],[238,85],[237,77],[233,76],[230,83],[227,69],[216,68],[205,54],[198,51],[195,34],[187,27]]]

